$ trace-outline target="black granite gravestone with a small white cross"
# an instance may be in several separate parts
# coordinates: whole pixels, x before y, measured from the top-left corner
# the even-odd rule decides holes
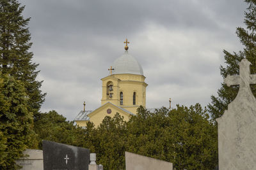
[[[88,170],[90,150],[43,141],[44,170]]]

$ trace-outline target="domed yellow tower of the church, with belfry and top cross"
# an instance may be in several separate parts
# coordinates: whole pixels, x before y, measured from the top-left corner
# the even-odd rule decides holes
[[[124,43],[124,54],[108,69],[110,75],[101,79],[101,104],[113,103],[136,114],[138,107],[146,107],[147,83],[140,63],[128,53],[129,41]]]

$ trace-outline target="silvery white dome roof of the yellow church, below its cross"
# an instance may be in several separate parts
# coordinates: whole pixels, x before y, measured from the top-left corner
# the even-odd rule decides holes
[[[113,64],[112,74],[139,74],[143,75],[143,69],[138,60],[129,55],[128,52],[116,59]]]

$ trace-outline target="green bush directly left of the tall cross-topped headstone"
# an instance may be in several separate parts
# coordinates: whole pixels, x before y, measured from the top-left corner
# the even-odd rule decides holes
[[[217,128],[199,104],[169,113],[177,169],[214,169],[218,162]]]

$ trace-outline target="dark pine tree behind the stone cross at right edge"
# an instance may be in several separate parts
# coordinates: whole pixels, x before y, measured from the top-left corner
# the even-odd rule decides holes
[[[242,45],[244,45],[243,51],[229,53],[224,50],[225,64],[227,66],[220,67],[220,73],[223,78],[226,78],[228,74],[239,74],[239,62],[246,58],[251,63],[251,73],[256,73],[256,1],[245,0],[248,3],[248,8],[244,12],[244,24],[243,27],[237,27],[236,34],[240,39]],[[256,96],[256,85],[251,85],[252,92]],[[218,90],[218,96],[211,96],[212,102],[208,105],[208,109],[212,118],[218,118],[223,115],[227,110],[228,104],[233,101],[239,90],[239,86],[227,87],[224,83],[221,83],[221,88]]]

